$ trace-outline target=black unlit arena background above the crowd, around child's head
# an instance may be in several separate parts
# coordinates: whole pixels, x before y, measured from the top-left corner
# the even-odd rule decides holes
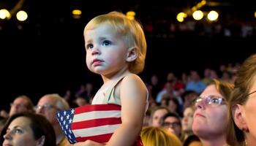
[[[240,63],[255,49],[255,21],[253,1],[209,1],[202,10],[217,9],[221,12],[217,23],[232,31],[231,37],[195,31],[169,29],[176,22],[176,14],[199,1],[23,1],[20,9],[28,12],[29,19],[20,23],[15,17],[0,20],[0,84],[1,108],[6,108],[15,96],[25,94],[37,103],[46,93],[78,90],[80,84],[93,82],[98,88],[101,77],[86,67],[83,44],[83,28],[91,18],[113,10],[134,10],[136,18],[145,27],[153,23],[153,31],[145,31],[148,43],[146,68],[140,74],[149,80],[151,74],[165,79],[167,72],[176,74],[189,69],[203,71],[206,67],[218,69],[219,64]],[[1,0],[0,9],[13,9],[16,0]],[[215,4],[215,5],[214,5]],[[80,19],[72,18],[72,9],[83,11]],[[188,18],[189,19],[189,18]],[[205,21],[196,22],[198,26]],[[249,37],[241,37],[237,29],[250,23],[254,31]]]

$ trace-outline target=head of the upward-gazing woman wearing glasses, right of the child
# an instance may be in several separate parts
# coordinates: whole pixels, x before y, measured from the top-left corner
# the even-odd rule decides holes
[[[213,80],[195,100],[192,130],[204,146],[227,145],[227,101],[232,91],[232,84]]]

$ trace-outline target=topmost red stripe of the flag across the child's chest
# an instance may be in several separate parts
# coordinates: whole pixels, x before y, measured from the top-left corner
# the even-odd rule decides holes
[[[83,112],[121,110],[121,106],[117,104],[93,104],[75,108],[75,115]]]

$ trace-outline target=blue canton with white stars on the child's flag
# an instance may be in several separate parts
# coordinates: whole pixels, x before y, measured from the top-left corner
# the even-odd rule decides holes
[[[75,135],[72,132],[71,124],[74,117],[75,110],[64,110],[57,112],[57,118],[59,120],[59,124],[61,126],[62,131],[64,131],[65,136],[69,140],[71,144],[77,142],[75,139]]]

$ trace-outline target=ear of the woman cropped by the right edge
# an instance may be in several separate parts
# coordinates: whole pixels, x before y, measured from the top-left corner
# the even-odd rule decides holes
[[[246,121],[244,120],[244,107],[240,104],[236,104],[232,107],[233,119],[241,131],[248,131]]]

